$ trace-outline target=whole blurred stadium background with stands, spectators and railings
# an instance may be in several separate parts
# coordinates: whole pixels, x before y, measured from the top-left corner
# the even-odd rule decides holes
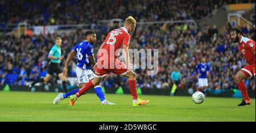
[[[158,74],[149,76],[145,74],[148,69],[135,69],[139,94],[169,95],[174,70],[181,74],[175,95],[192,94],[198,88],[195,67],[206,57],[208,95],[242,97],[234,74],[246,60],[228,31],[240,27],[243,36],[255,41],[255,1],[249,0],[1,0],[0,14],[0,90],[7,91],[28,90],[32,81],[46,76],[48,52],[56,36],[63,39],[61,51],[66,59],[86,31],[95,31],[96,55],[108,32],[121,27],[131,15],[137,28],[130,48],[159,52]],[[68,69],[69,90],[77,85],[75,68],[73,58]],[[247,78],[245,84],[250,97],[255,97],[255,78]],[[129,93],[127,79],[115,74],[105,77],[102,85],[109,88],[106,93]],[[63,90],[59,78],[53,76],[43,89],[32,91]]]

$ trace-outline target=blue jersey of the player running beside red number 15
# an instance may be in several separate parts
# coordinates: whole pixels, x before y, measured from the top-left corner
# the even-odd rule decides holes
[[[77,66],[82,69],[92,69],[89,56],[93,55],[93,47],[89,41],[81,41],[73,48],[76,51]]]

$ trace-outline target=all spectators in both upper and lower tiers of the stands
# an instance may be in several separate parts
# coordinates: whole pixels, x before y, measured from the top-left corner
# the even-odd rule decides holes
[[[200,19],[216,10],[220,5],[234,1],[197,1],[193,4],[191,1],[184,2],[182,0],[168,2],[167,4],[163,1],[129,1],[127,4],[127,1],[117,0],[112,2],[115,3],[112,6],[108,1],[55,1],[50,5],[46,4],[48,2],[42,4],[29,2],[30,4],[28,4],[28,2],[16,1],[16,4],[22,6],[27,12],[20,13],[14,9],[13,12],[1,16],[0,20],[7,23],[25,20],[32,25],[77,24],[96,23],[97,20],[107,18],[124,18],[130,14],[133,14],[139,21]],[[207,2],[206,6],[204,5],[205,2]],[[178,6],[180,7],[177,7],[175,3],[179,3]],[[10,1],[0,2],[0,9],[5,13],[10,9],[3,9],[3,4],[10,5],[6,7],[12,8],[11,4],[13,3]],[[70,4],[71,6],[67,7],[63,4]],[[90,4],[97,4],[97,6],[89,8]],[[77,7],[77,5],[84,5],[84,8]],[[121,8],[117,10],[117,8],[113,8],[115,6]],[[112,10],[108,11],[109,9]],[[193,9],[197,10],[193,11]],[[56,12],[56,10],[63,12]],[[28,11],[33,11],[37,15],[32,17],[27,14]],[[104,11],[106,14],[103,13]],[[171,72],[177,68],[182,75],[179,89],[195,89],[197,86],[195,66],[200,62],[201,57],[206,57],[210,66],[209,88],[237,88],[233,77],[238,70],[246,65],[246,61],[238,52],[237,45],[231,42],[228,34],[229,29],[230,25],[227,24],[226,32],[220,34],[216,27],[205,25],[195,28],[189,23],[137,26],[130,48],[159,49],[158,74],[148,76],[145,74],[147,69],[136,69],[138,86],[141,88],[171,88]],[[97,29],[97,42],[93,45],[95,54],[106,36],[105,32],[101,30]],[[244,36],[255,40],[255,29],[242,27],[242,31]],[[33,35],[32,37],[23,35],[21,38],[6,35],[5,38],[0,39],[0,84],[28,85],[36,78],[44,77],[49,62],[47,59],[48,51],[54,45],[53,39],[56,36],[63,39],[61,50],[66,58],[73,46],[82,39],[83,32],[78,29],[71,34]],[[62,64],[64,65],[64,61]],[[69,76],[75,76],[75,68],[76,63],[73,59],[69,67]],[[52,79],[52,82],[56,81],[56,77]],[[247,79],[245,83],[248,89],[255,90],[253,79]],[[125,78],[120,78],[114,74],[109,74],[103,80],[103,85],[109,87],[125,84],[127,84]]]

